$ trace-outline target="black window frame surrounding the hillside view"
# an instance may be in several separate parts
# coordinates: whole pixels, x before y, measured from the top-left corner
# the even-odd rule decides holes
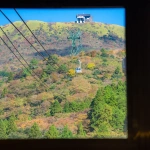
[[[13,0],[3,1],[1,8],[55,8],[55,7],[125,7],[126,8],[126,53],[127,53],[127,139],[86,139],[86,140],[1,140],[2,149],[149,149],[150,128],[149,77],[150,44],[148,45],[148,18],[150,5],[146,0],[131,4],[130,0]],[[149,8],[149,9],[148,9]],[[142,27],[142,29],[141,29]],[[143,53],[141,52],[143,51]],[[143,134],[142,134],[143,133]],[[137,136],[137,138],[136,138]],[[146,142],[147,141],[147,142]]]

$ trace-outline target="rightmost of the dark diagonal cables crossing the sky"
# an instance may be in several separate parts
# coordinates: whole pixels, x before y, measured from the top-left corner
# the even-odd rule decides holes
[[[43,48],[43,50],[46,52],[46,54],[49,56],[50,59],[53,60],[53,58],[51,58],[51,56],[49,55],[49,53],[47,52],[47,50],[44,48],[44,46],[41,44],[41,42],[38,40],[38,38],[34,35],[34,33],[32,32],[32,30],[29,28],[29,26],[26,24],[26,22],[23,20],[23,18],[21,17],[21,15],[18,13],[18,11],[14,8],[14,11],[17,13],[17,15],[19,16],[19,18],[23,21],[23,23],[25,24],[25,26],[29,29],[29,31],[31,32],[31,34],[34,36],[34,38],[38,41],[38,43],[40,44],[40,46]],[[53,60],[54,61],[54,60]],[[57,65],[57,64],[56,64]],[[58,66],[58,65],[57,65]],[[59,66],[58,66],[59,67]]]

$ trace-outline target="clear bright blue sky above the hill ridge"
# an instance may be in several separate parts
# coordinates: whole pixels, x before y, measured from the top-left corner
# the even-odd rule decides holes
[[[1,9],[12,21],[21,21],[16,12],[9,9]],[[117,24],[125,26],[124,8],[70,8],[70,9],[17,9],[25,20],[39,20],[44,22],[74,22],[77,14],[91,14],[94,22]],[[9,24],[9,21],[0,12],[0,25]]]

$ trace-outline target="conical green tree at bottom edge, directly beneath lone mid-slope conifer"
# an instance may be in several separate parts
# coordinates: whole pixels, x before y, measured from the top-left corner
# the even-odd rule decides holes
[[[49,130],[46,132],[45,137],[48,139],[55,139],[59,137],[59,132],[54,125],[49,127]]]

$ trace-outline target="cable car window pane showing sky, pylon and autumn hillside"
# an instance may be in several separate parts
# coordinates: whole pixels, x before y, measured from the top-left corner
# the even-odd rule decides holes
[[[0,139],[128,137],[124,8],[0,18]]]

